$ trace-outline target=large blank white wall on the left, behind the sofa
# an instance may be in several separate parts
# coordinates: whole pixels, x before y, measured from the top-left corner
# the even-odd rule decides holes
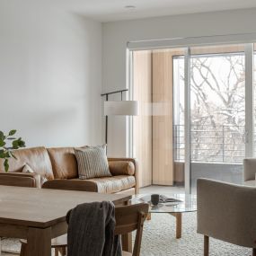
[[[0,130],[27,146],[99,144],[102,24],[34,2],[0,2]]]

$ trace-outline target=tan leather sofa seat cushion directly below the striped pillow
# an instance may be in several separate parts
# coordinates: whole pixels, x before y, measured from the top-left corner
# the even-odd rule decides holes
[[[79,180],[79,179],[74,179]],[[80,180],[81,181],[81,180]],[[111,176],[111,177],[102,177],[102,178],[94,178],[90,181],[97,185],[99,193],[117,193],[122,190],[128,190],[130,188],[135,187],[136,181],[134,176],[128,175],[118,175],[118,176]]]

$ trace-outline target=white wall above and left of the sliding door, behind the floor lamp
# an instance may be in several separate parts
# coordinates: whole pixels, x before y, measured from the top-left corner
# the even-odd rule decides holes
[[[256,32],[256,9],[186,14],[103,24],[102,90],[126,87],[126,47],[132,40],[161,40]],[[126,154],[125,119],[111,120],[109,153]]]

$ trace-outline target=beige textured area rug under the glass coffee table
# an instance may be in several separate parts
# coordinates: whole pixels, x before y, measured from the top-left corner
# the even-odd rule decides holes
[[[203,255],[203,236],[196,232],[196,213],[183,215],[182,238],[175,238],[175,218],[168,214],[152,214],[146,221],[142,256],[200,256]],[[3,241],[3,250],[19,252],[18,240]],[[251,256],[252,250],[210,239],[211,256]]]

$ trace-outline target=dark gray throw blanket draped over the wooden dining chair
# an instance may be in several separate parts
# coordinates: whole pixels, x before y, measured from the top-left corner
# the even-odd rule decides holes
[[[111,202],[78,205],[66,216],[68,256],[121,256],[115,231],[115,206]]]

